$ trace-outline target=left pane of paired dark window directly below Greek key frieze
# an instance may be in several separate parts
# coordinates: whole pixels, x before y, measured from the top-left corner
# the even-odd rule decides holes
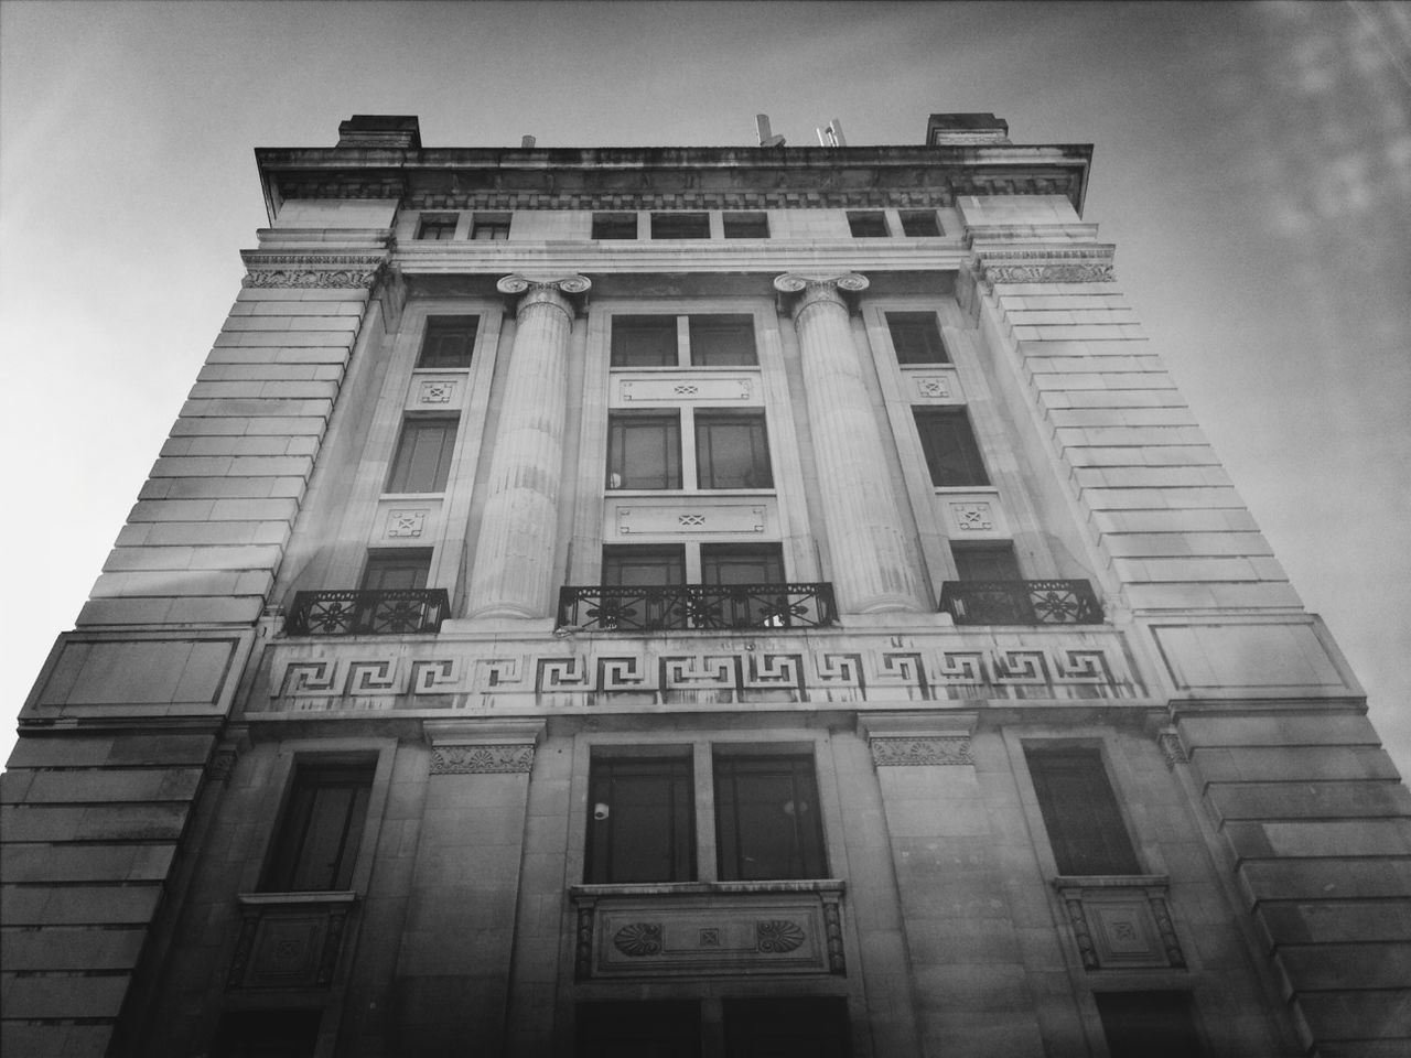
[[[690,755],[593,760],[583,880],[694,882],[694,820]]]

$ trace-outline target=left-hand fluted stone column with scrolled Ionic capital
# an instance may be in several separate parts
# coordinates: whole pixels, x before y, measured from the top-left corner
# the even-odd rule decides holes
[[[470,580],[468,616],[536,618],[550,612],[563,468],[569,334],[588,279],[507,275],[501,293],[522,295],[499,402],[499,432]]]

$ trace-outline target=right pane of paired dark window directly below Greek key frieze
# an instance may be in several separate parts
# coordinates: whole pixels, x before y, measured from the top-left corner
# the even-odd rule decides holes
[[[715,756],[722,882],[827,877],[811,755]]]

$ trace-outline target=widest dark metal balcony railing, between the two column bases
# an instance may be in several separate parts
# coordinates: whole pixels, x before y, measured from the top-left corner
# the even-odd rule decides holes
[[[818,628],[838,619],[832,584],[564,587],[559,628],[656,632],[682,628]]]

